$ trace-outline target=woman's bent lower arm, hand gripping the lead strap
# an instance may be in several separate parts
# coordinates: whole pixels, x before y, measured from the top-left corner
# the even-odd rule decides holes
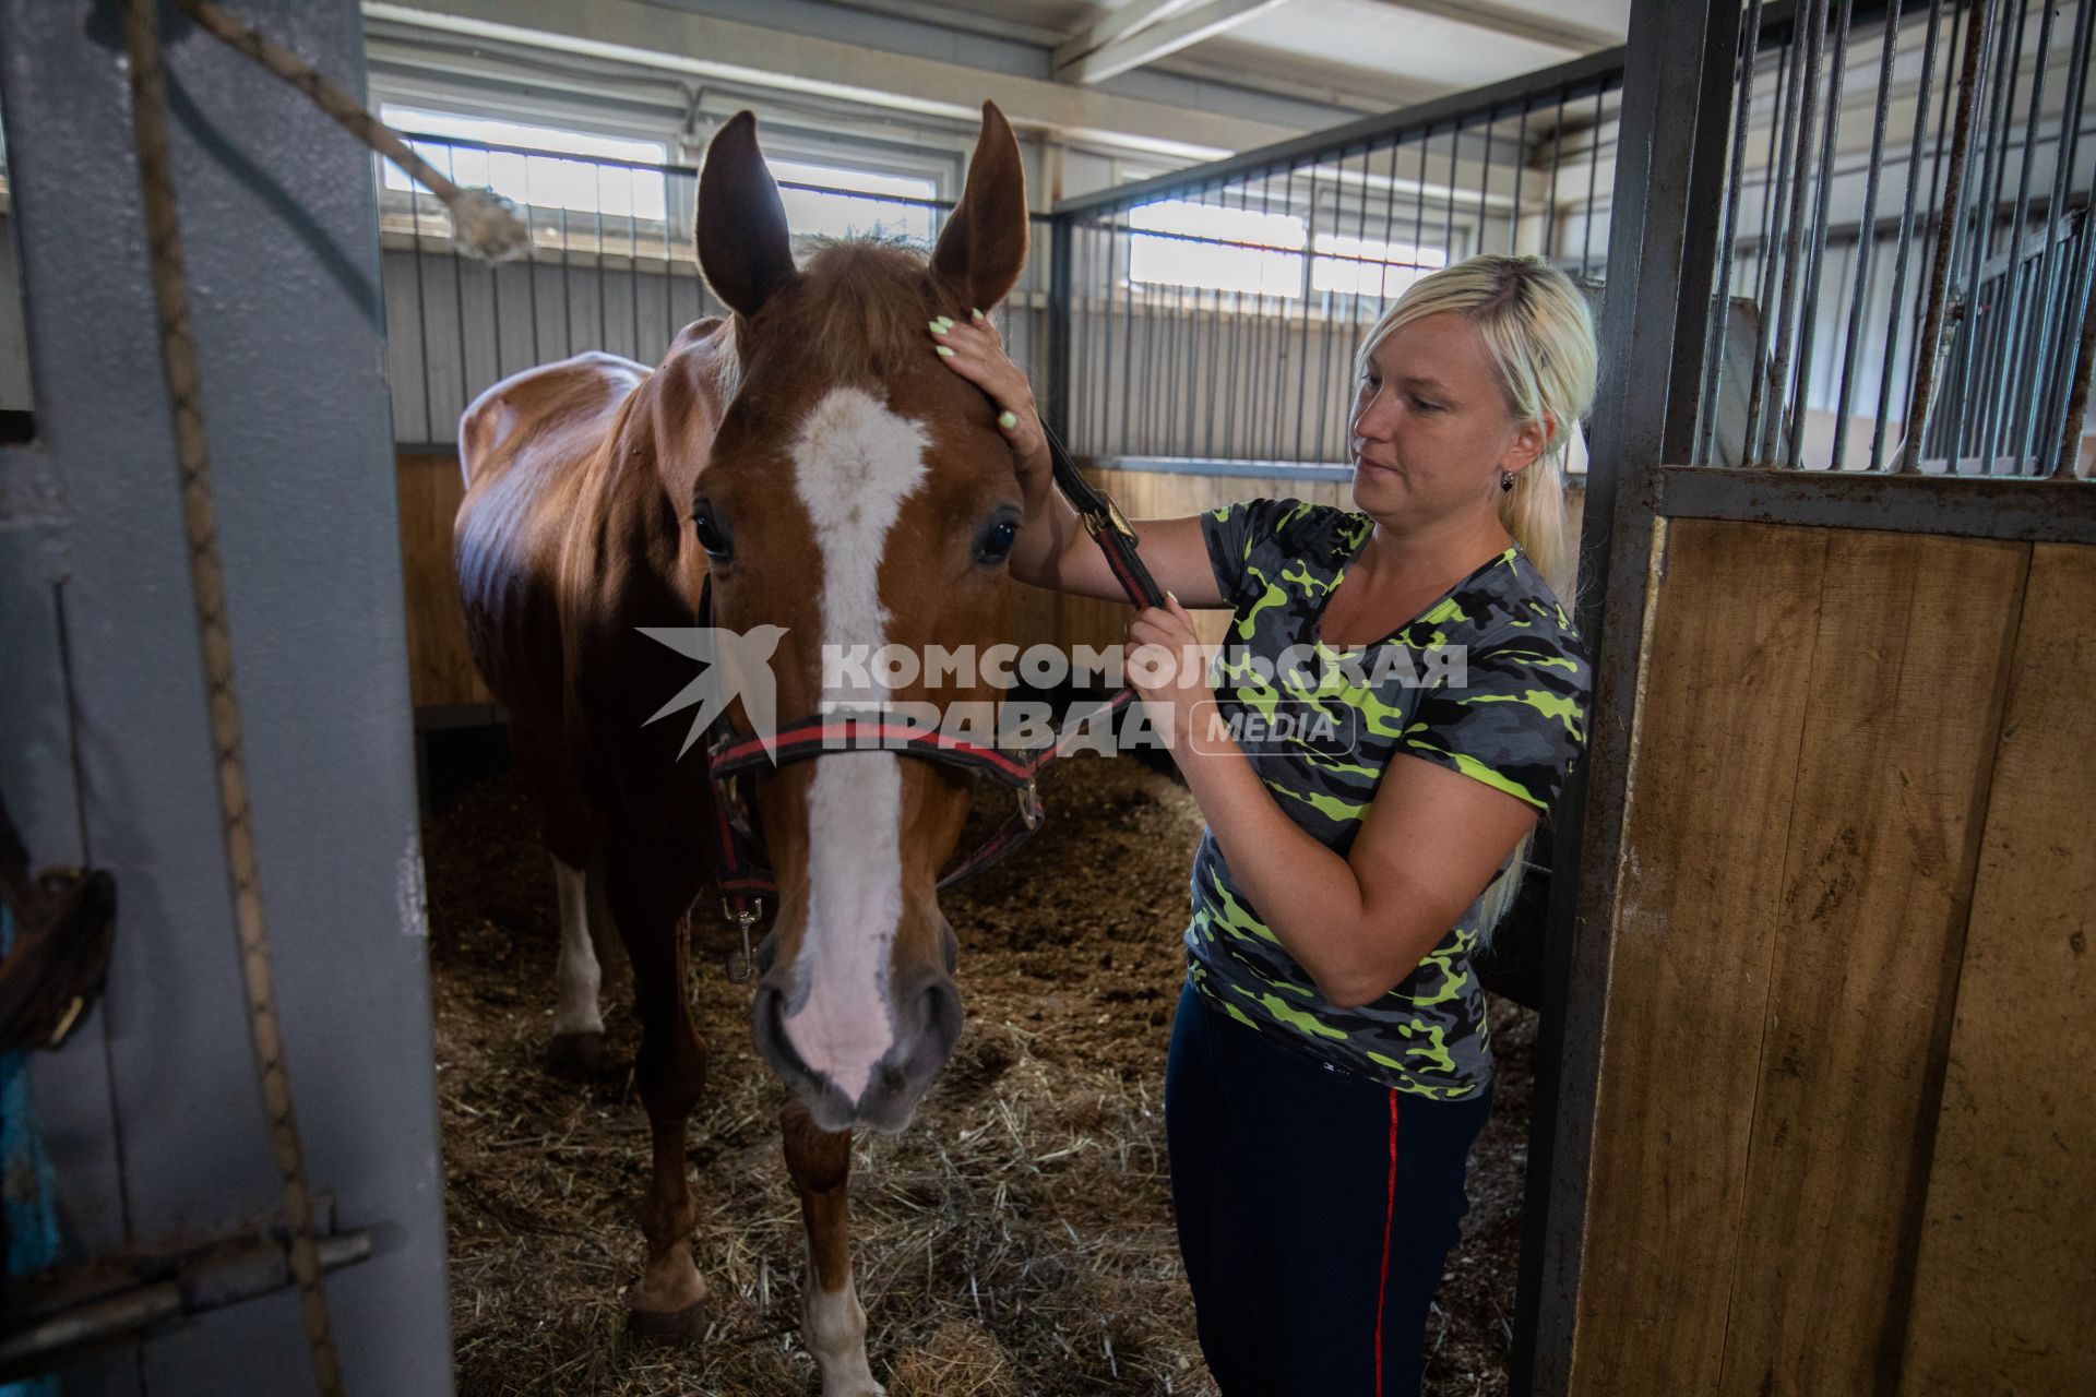
[[[1130,674],[1142,672],[1138,645],[1161,645],[1174,660],[1195,645],[1176,605],[1138,614],[1128,641]],[[1534,806],[1518,796],[1400,754],[1339,857],[1287,817],[1243,748],[1211,731],[1205,683],[1151,687],[1142,697],[1170,710],[1174,758],[1230,875],[1339,1010],[1396,989],[1536,823]]]

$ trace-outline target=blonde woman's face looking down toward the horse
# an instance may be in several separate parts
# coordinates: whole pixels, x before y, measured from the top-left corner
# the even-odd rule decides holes
[[[1507,411],[1484,337],[1442,312],[1383,335],[1354,392],[1354,503],[1369,515],[1446,517],[1499,498],[1501,471],[1543,454],[1543,427]]]

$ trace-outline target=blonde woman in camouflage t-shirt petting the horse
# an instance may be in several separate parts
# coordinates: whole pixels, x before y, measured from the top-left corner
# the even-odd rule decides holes
[[[1119,597],[989,323],[933,329],[1019,457],[1014,576]],[[1165,1135],[1201,1349],[1226,1397],[1419,1391],[1490,1110],[1469,955],[1585,739],[1562,457],[1593,379],[1578,289],[1536,258],[1473,258],[1415,283],[1362,341],[1358,513],[1245,501],[1138,526],[1174,597],[1130,624],[1132,672],[1142,647],[1195,643],[1180,599],[1232,607],[1241,647],[1216,664],[1220,691],[1138,681],[1207,819]],[[1371,664],[1392,645],[1419,662]],[[1289,647],[1354,668],[1308,677]],[[1425,660],[1436,649],[1446,668]],[[1247,752],[1209,702],[1297,702],[1344,731]]]

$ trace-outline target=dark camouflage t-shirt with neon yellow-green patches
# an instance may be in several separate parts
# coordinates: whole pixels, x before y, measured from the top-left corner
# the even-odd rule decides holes
[[[1329,505],[1245,501],[1201,515],[1235,607],[1211,668],[1218,708],[1281,808],[1341,857],[1404,752],[1549,808],[1587,735],[1578,633],[1520,547],[1492,557],[1377,645],[1318,641],[1325,599],[1373,522]],[[1247,727],[1249,725],[1249,727]],[[1268,1039],[1398,1091],[1473,1097],[1490,1083],[1484,989],[1469,953],[1482,896],[1394,991],[1335,1010],[1281,947],[1205,831],[1193,865],[1188,974]]]

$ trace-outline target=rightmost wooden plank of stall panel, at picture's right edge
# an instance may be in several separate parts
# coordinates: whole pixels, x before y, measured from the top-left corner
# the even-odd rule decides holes
[[[1899,1391],[2096,1391],[2096,549],[2035,545]]]

